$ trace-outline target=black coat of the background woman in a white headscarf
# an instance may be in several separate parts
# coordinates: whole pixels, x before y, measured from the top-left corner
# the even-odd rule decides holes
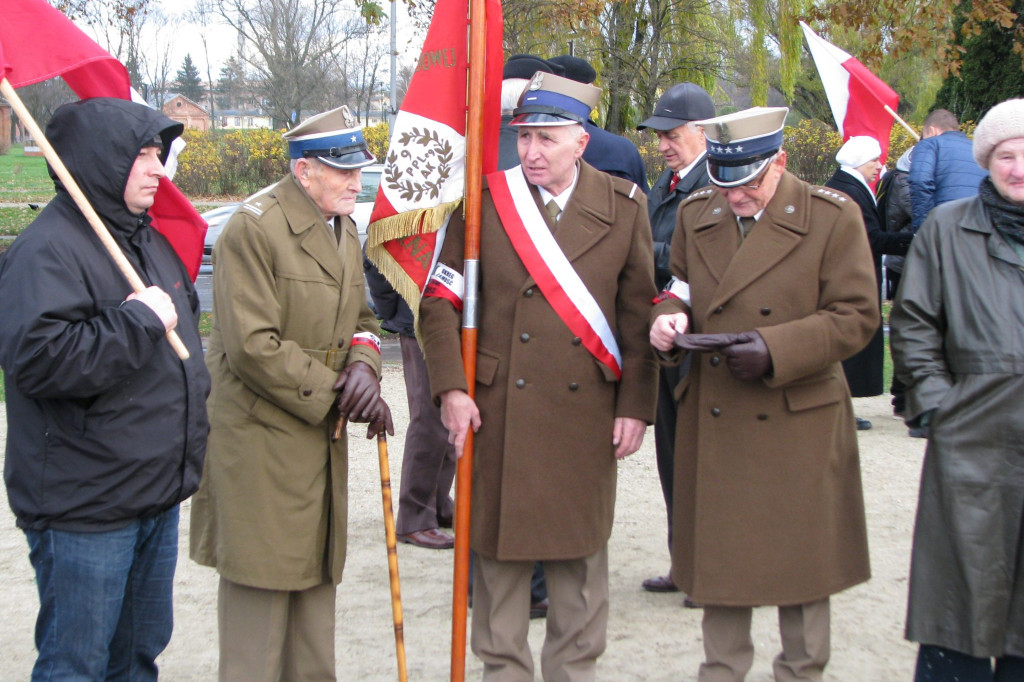
[[[888,232],[884,229],[874,197],[866,184],[853,176],[854,172],[856,171],[851,172],[839,168],[825,181],[825,186],[844,193],[860,207],[860,213],[864,218],[864,228],[867,231],[867,243],[871,247],[874,275],[881,292],[882,256],[885,254],[905,255],[910,246],[912,235]],[[881,307],[879,314],[882,314]],[[879,326],[878,331],[871,336],[871,340],[860,352],[843,360],[843,371],[846,373],[846,381],[850,385],[850,394],[853,397],[882,395],[885,390],[882,385],[884,366],[885,338],[882,335],[882,327]]]

